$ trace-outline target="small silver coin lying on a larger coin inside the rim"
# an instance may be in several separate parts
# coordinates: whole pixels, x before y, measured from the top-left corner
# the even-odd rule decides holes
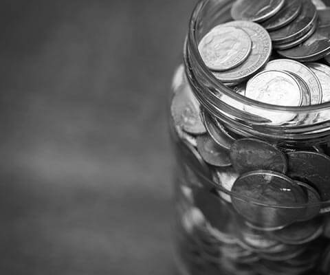
[[[214,71],[237,67],[248,58],[251,49],[252,41],[245,31],[224,25],[213,28],[199,43],[201,58]]]

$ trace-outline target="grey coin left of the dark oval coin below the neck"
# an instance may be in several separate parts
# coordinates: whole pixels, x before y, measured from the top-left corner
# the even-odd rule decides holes
[[[203,157],[208,164],[219,167],[232,165],[228,151],[219,146],[208,135],[199,135],[199,137],[197,137],[197,149],[201,157]]]

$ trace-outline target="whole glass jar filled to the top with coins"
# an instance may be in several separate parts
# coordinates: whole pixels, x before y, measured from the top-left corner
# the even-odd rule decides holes
[[[180,274],[330,274],[330,1],[200,1],[172,88]]]

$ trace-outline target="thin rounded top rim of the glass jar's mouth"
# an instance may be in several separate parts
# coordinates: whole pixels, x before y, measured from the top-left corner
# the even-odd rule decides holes
[[[211,72],[210,69],[206,66],[206,64],[203,61],[203,58],[201,58],[201,54],[199,53],[198,49],[198,38],[197,38],[197,32],[199,31],[199,26],[201,25],[201,19],[206,14],[206,8],[210,3],[214,0],[202,0],[197,3],[195,6],[195,9],[192,12],[192,16],[190,17],[189,22],[189,29],[188,29],[188,37],[186,41],[186,47],[189,49],[190,54],[196,59],[197,65],[199,66],[199,74],[203,76],[212,86],[214,89],[221,90],[221,93],[225,94],[225,96],[228,96],[229,98],[232,98],[234,100],[237,100],[239,102],[242,102],[243,104],[249,105],[251,107],[256,107],[259,109],[265,109],[265,110],[272,110],[272,111],[281,111],[281,113],[309,113],[309,112],[320,112],[330,109],[330,102],[324,102],[320,104],[313,104],[309,106],[301,106],[301,107],[293,107],[293,106],[279,106],[274,104],[267,104],[264,102],[259,102],[250,98],[247,98],[245,96],[242,96],[241,94],[236,94],[230,87],[225,86],[223,83],[221,83],[220,80],[218,80]],[[222,1],[225,2],[225,5],[223,5],[223,9],[230,9],[232,5],[231,0],[225,0]],[[219,1],[221,3],[221,1]],[[330,84],[329,84],[330,85]],[[330,118],[329,120],[330,121]]]

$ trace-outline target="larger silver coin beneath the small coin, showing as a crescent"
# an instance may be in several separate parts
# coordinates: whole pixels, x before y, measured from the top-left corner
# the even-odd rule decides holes
[[[224,83],[237,83],[248,79],[267,63],[272,52],[272,41],[261,25],[248,21],[232,21],[225,25],[242,28],[252,40],[252,51],[244,63],[226,72],[213,72]]]

